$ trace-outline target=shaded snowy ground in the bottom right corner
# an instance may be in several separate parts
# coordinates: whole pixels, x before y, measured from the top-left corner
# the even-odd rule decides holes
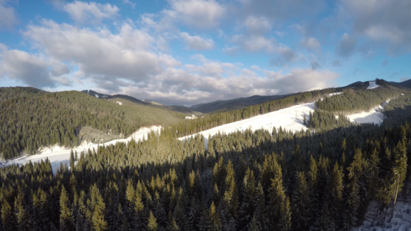
[[[392,217],[391,222],[389,221],[389,218],[391,218],[389,213],[387,213],[386,217],[384,217],[384,212],[378,214],[378,204],[373,201],[370,203],[368,212],[365,215],[366,220],[362,225],[353,228],[352,230],[411,230],[411,198],[408,197],[408,200],[403,200],[402,197],[399,198],[400,195],[401,193],[398,194],[398,199],[394,207],[394,216]]]

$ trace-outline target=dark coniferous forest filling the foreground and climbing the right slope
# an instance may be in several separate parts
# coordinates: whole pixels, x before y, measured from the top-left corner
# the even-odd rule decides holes
[[[217,113],[146,141],[72,153],[56,175],[48,160],[0,168],[1,230],[350,230],[371,201],[389,216],[396,195],[410,191],[411,95],[385,89],[375,102],[393,98],[380,126],[320,108],[307,131],[217,134],[207,147],[203,136],[176,139],[176,129],[215,127],[220,120],[199,123]]]

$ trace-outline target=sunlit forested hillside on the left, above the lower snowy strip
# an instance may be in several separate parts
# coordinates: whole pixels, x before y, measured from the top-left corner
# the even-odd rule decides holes
[[[77,91],[47,93],[35,88],[0,88],[0,153],[3,158],[10,158],[22,152],[34,154],[45,145],[76,146],[86,137],[120,138],[140,127],[172,125],[185,117],[121,100],[123,105]],[[88,128],[86,136],[84,128]]]

